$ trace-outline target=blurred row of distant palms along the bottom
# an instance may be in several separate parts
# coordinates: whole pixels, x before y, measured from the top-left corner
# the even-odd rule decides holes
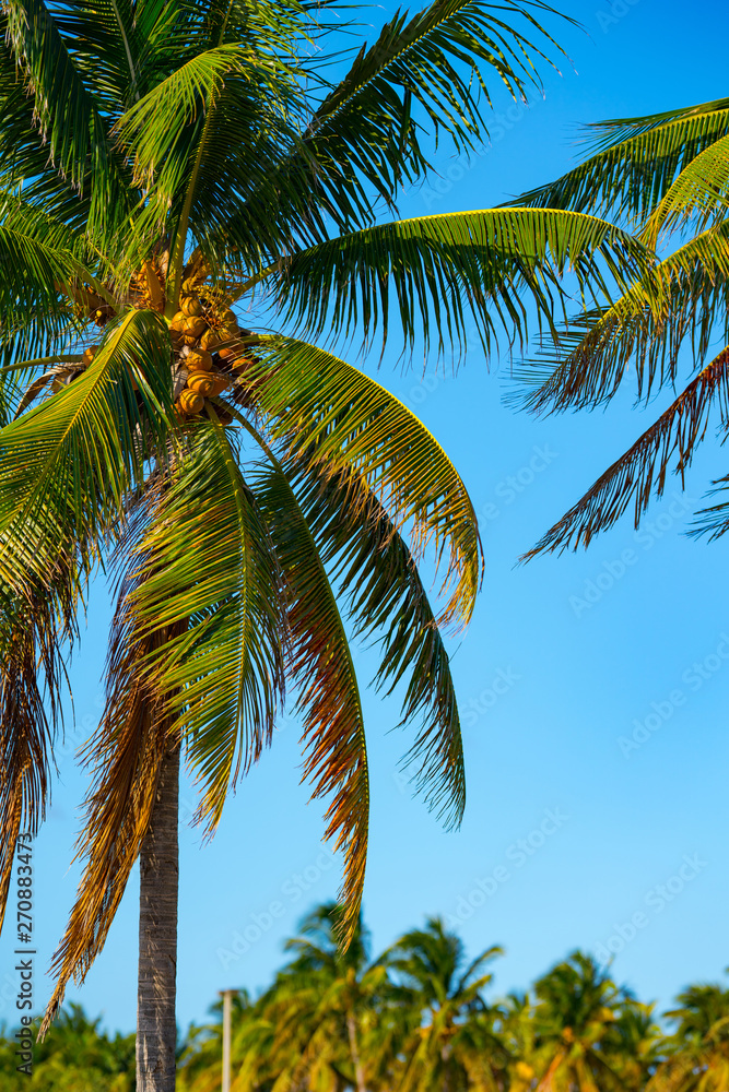
[[[318,907],[256,1000],[233,999],[232,1092],[727,1092],[729,989],[690,986],[657,1013],[576,951],[527,994],[492,999],[490,948],[467,959],[437,918],[373,959],[364,928],[342,952],[337,907]],[[179,1047],[178,1092],[221,1087],[221,1006]],[[28,1081],[8,1033],[0,1092],[132,1092],[133,1035],[79,1008],[43,1045]]]

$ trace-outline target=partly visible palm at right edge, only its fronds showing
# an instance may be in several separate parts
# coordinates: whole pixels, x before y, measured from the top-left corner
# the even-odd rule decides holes
[[[520,371],[519,397],[537,413],[592,408],[628,373],[633,381],[633,367],[638,402],[666,385],[683,390],[528,557],[587,546],[628,509],[637,526],[671,475],[683,485],[713,423],[722,432],[729,422],[729,99],[603,121],[590,136],[595,154],[524,204],[614,217],[661,260],[566,327],[537,368]],[[728,486],[729,475],[714,483],[717,502],[698,513],[694,534],[727,531]]]

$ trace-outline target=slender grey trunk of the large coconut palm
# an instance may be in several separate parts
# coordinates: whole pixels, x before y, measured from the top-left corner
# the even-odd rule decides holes
[[[179,744],[162,764],[139,855],[137,1092],[175,1092]]]

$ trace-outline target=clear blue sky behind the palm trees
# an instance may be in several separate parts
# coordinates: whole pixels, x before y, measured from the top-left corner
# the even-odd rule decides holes
[[[574,162],[579,122],[727,94],[724,3],[616,0],[611,9],[590,0],[563,10],[589,32],[560,35],[577,71],[548,73],[545,99],[528,110],[508,112],[497,96],[502,119],[487,153],[468,170],[442,156],[440,192],[410,194],[404,215],[487,207],[555,177]],[[601,957],[612,947],[621,949],[615,976],[667,1007],[687,982],[716,980],[729,963],[729,544],[683,534],[710,478],[727,472],[726,455],[709,440],[686,492],[670,486],[637,535],[624,521],[587,554],[515,567],[661,403],[638,412],[626,395],[605,414],[533,420],[503,405],[506,363],[487,368],[473,351],[454,378],[430,364],[424,376],[403,373],[396,355],[386,356],[380,381],[418,411],[461,471],[483,518],[486,575],[473,625],[452,645],[468,772],[460,832],[444,833],[397,772],[408,746],[407,732],[389,731],[397,704],[366,698],[365,914],[374,943],[442,914],[474,953],[504,945],[494,995],[527,987],[576,947]],[[108,604],[96,591],[72,676],[77,728],[35,847],[44,966],[79,876],[69,863],[84,780],[72,755],[101,705]],[[366,678],[368,655],[357,662]],[[298,917],[337,890],[339,862],[322,850],[320,810],[298,783],[297,739],[284,722],[211,844],[181,828],[183,1028],[204,1018],[217,989],[262,986]],[[183,798],[193,802],[189,786]],[[134,1025],[136,900],[134,876],[103,954],[68,995],[122,1030]],[[5,929],[7,1020],[11,948]],[[49,981],[38,980],[39,1004],[48,992]]]

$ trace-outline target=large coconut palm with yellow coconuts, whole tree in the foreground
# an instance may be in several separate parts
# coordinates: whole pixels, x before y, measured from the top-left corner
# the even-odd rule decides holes
[[[175,1080],[181,756],[211,835],[290,685],[351,935],[368,814],[354,631],[380,641],[377,682],[402,682],[403,722],[420,720],[415,788],[446,822],[462,811],[443,630],[473,610],[473,508],[427,430],[326,337],[384,344],[392,305],[405,348],[458,347],[475,319],[489,349],[524,334],[524,292],[551,327],[567,268],[624,284],[644,261],[626,233],[561,212],[383,222],[431,169],[427,128],[459,151],[484,138],[486,73],[517,96],[538,79],[546,11],[436,0],[331,82],[328,8],[307,0],[3,8],[0,904],[16,835],[43,817],[62,657],[104,566],[107,700],[44,1026],[139,859],[139,1092]]]

